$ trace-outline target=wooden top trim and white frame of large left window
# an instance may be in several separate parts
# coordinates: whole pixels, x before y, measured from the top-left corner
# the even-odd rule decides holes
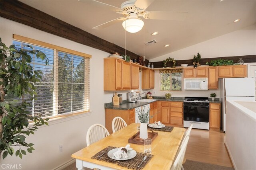
[[[70,50],[70,49],[66,49],[63,47],[59,47],[56,45],[52,45],[49,43],[44,43],[42,41],[38,41],[38,40],[34,40],[34,39],[30,39],[27,37],[22,37],[20,35],[15,35],[13,34],[13,41],[20,41],[21,43],[28,43],[28,44],[32,44],[35,46],[40,46],[40,47],[45,47],[48,49],[53,49],[54,50],[54,63],[53,63],[53,76],[54,76],[54,80],[53,80],[53,94],[52,94],[52,115],[50,116],[44,116],[41,117],[43,119],[46,118],[56,118],[56,117],[66,117],[66,116],[72,116],[72,115],[78,115],[78,114],[82,114],[82,113],[90,113],[90,58],[92,58],[91,55],[88,55],[86,53],[81,53],[78,51],[74,51],[74,50]],[[75,55],[78,57],[84,57],[84,103],[83,103],[83,110],[78,110],[78,111],[71,111],[68,113],[61,113],[58,114],[58,54],[59,52],[62,53],[66,53],[66,54],[70,54],[70,55]],[[73,58],[73,57],[72,57]],[[88,60],[89,61],[86,61]],[[73,62],[73,59],[72,59]],[[34,61],[32,62],[32,64],[34,64]],[[73,67],[72,67],[73,70]],[[87,73],[87,74],[86,74]],[[73,76],[73,75],[72,75]],[[71,83],[73,84],[73,82]],[[87,89],[87,90],[86,90]],[[72,100],[72,98],[71,98]],[[73,101],[72,101],[73,102]],[[32,101],[32,110],[34,110],[34,100]],[[72,106],[72,105],[71,105]],[[32,112],[32,111],[31,111]],[[34,116],[34,113],[32,112],[32,115]]]

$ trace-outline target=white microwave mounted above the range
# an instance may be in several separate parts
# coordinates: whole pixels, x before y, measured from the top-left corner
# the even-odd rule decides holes
[[[208,90],[208,78],[184,78],[184,90]]]

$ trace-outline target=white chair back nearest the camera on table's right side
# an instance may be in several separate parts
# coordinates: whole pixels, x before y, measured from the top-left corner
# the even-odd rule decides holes
[[[174,158],[174,162],[172,164],[172,167],[170,168],[170,170],[182,170],[182,162],[186,153],[186,149],[188,146],[188,139],[189,136],[186,136],[180,146],[180,149],[177,152],[177,156],[176,159]]]

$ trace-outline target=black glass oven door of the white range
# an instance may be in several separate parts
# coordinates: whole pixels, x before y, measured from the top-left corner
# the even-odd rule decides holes
[[[184,121],[209,122],[209,105],[183,105]]]

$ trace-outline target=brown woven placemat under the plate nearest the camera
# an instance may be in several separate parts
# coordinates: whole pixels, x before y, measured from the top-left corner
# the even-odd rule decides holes
[[[108,146],[105,149],[102,149],[100,152],[96,153],[94,156],[92,156],[92,159],[101,160],[101,161],[105,161],[105,162],[110,162],[112,164],[117,164],[119,166],[122,166],[122,167],[125,167],[125,168],[128,168],[128,169],[141,170],[146,166],[146,164],[154,156],[152,154],[145,154],[145,153],[142,153],[142,152],[137,152],[137,155],[132,159],[129,159],[129,160],[114,160],[114,159],[111,159],[110,157],[108,157],[108,151],[110,151],[112,149],[116,149],[116,148],[117,147]],[[144,160],[142,162],[142,159],[146,155],[148,157],[146,158],[146,160]],[[141,162],[142,162],[142,164],[140,165],[140,167],[138,167],[138,164],[140,164]]]

